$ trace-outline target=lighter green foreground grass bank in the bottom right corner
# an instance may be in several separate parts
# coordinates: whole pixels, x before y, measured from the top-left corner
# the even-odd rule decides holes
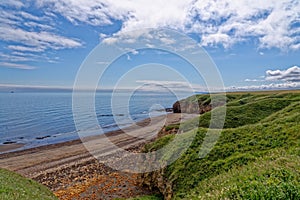
[[[199,182],[186,199],[300,199],[299,174],[299,156],[278,150]]]

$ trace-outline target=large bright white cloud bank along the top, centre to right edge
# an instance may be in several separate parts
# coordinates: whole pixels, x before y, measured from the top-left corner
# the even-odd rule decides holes
[[[120,32],[167,27],[195,33],[203,46],[227,48],[254,38],[260,48],[300,49],[295,37],[300,33],[300,3],[294,0],[40,0],[37,5],[74,24],[120,20]]]

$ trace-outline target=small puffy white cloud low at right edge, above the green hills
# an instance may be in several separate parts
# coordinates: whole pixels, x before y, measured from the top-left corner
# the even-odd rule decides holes
[[[287,70],[267,70],[266,80],[300,82],[300,67],[294,66]]]

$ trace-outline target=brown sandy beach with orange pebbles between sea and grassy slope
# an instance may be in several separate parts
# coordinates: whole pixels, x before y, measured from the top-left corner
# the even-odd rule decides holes
[[[113,199],[147,194],[149,191],[139,185],[137,174],[111,169],[94,156],[110,158],[118,154],[115,146],[139,152],[164,125],[194,117],[171,113],[105,135],[1,154],[0,167],[39,181],[61,199]]]

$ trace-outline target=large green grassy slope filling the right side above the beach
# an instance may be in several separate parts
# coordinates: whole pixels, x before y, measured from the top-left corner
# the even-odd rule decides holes
[[[230,93],[227,102],[225,126],[212,151],[199,158],[208,112],[188,151],[167,167],[173,198],[300,199],[300,93]],[[195,120],[184,129],[190,123]],[[170,138],[146,149],[158,149]]]

